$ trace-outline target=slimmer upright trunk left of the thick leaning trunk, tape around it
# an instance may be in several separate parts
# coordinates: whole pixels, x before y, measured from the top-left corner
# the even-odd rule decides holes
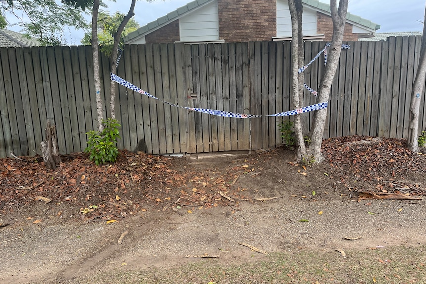
[[[298,73],[300,64],[301,66],[304,65],[303,32],[301,26],[303,6],[301,0],[288,0],[288,3],[292,19],[292,103],[294,108],[299,109],[302,107],[303,103],[303,88],[301,86],[303,85],[304,78],[302,73]],[[303,53],[303,55],[301,55],[301,53]],[[295,160],[301,161],[302,157],[304,157],[307,153],[307,150],[303,140],[302,121],[300,115],[295,116],[294,126],[296,142]]]

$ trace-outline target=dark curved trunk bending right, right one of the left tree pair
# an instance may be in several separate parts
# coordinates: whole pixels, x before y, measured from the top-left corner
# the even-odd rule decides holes
[[[117,57],[118,57],[118,45],[121,40],[121,34],[124,30],[124,27],[134,16],[134,6],[136,5],[136,0],[131,1],[130,9],[127,15],[123,18],[123,21],[120,23],[117,29],[117,33],[114,35],[114,45],[111,53],[111,73],[115,73],[117,70]],[[116,83],[111,80],[110,83],[110,118],[115,119],[115,89]]]

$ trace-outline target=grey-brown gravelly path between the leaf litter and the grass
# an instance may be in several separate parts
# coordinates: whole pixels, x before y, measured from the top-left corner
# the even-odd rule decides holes
[[[187,212],[190,209],[192,213]],[[111,224],[67,222],[53,226],[30,225],[22,216],[0,231],[1,241],[21,237],[0,244],[0,283],[65,282],[100,271],[184,264],[197,261],[185,255],[205,253],[220,254],[222,262],[263,257],[239,242],[268,252],[313,249],[330,253],[337,253],[336,248],[426,243],[426,219],[419,217],[426,214],[424,204],[275,199],[242,202],[240,209],[181,208],[141,212]],[[319,211],[323,213],[319,215]],[[123,232],[128,235],[119,245]],[[362,238],[349,241],[344,236]]]

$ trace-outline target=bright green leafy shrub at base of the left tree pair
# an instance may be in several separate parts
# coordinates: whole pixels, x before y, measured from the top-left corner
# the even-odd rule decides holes
[[[118,156],[117,138],[121,138],[118,129],[120,124],[117,120],[103,120],[104,129],[102,132],[91,130],[87,132],[88,137],[86,153],[90,154],[89,159],[95,161],[96,165],[107,162],[115,162]]]

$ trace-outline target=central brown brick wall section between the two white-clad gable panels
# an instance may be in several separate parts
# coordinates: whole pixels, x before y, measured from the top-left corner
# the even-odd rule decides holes
[[[276,0],[218,0],[219,38],[269,41],[277,33]]]

